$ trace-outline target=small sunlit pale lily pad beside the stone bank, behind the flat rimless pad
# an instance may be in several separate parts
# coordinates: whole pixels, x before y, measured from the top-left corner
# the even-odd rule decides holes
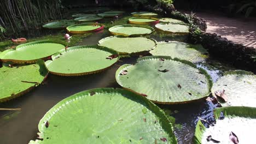
[[[178,33],[178,34],[188,34],[189,26],[174,24],[174,23],[158,23],[155,25],[160,31],[170,32],[170,33]]]

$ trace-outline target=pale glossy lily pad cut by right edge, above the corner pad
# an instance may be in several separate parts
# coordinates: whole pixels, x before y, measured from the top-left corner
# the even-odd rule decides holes
[[[223,92],[228,101],[220,100],[222,106],[256,107],[256,75],[248,71],[229,71],[224,73],[212,87],[212,94]],[[219,98],[219,97],[217,97]]]

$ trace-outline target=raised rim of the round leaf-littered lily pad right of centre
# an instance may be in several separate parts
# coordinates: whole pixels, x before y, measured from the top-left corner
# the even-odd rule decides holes
[[[212,85],[213,85],[213,82],[212,82],[212,79],[211,79],[211,76],[207,73],[207,71],[205,69],[202,69],[202,68],[197,68],[196,65],[192,62],[189,62],[189,61],[186,61],[186,60],[182,60],[182,59],[179,59],[179,58],[172,58],[170,56],[146,56],[146,57],[140,57],[137,59],[137,63],[139,61],[143,61],[143,60],[148,60],[148,59],[159,59],[159,58],[164,58],[164,59],[170,59],[170,60],[173,60],[173,61],[177,61],[177,62],[181,62],[183,64],[187,64],[189,65],[190,67],[193,67],[195,69],[198,69],[201,73],[203,73],[203,75],[206,76],[206,80],[207,80],[207,83],[208,83],[208,93],[206,94],[205,97],[208,97],[208,95],[211,93],[211,88],[212,88]],[[117,81],[118,85],[120,85],[121,87],[123,87],[123,85],[121,85],[121,82],[119,81],[118,77],[120,76],[120,73],[121,73],[121,70],[123,70],[124,68],[127,68],[127,67],[131,67],[132,64],[124,64],[124,65],[121,65],[121,67],[118,68],[118,70],[115,72],[115,80]],[[132,89],[129,89],[129,88],[126,88],[126,87],[123,87],[129,91],[132,91],[134,93],[137,93],[135,91],[133,91]],[[137,93],[139,94],[139,93]],[[139,94],[140,95],[140,94]],[[203,97],[203,98],[205,98]],[[203,99],[203,98],[200,98],[200,99]],[[200,99],[195,99],[195,100],[200,100]],[[181,104],[181,103],[188,103],[188,102],[192,102],[192,101],[195,101],[195,100],[190,100],[190,101],[182,101],[182,102],[172,102],[172,103],[160,103],[159,101],[154,101],[155,103],[160,103],[160,104]]]

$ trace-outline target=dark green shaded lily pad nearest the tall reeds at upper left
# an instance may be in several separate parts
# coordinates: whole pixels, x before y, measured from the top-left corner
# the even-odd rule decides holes
[[[43,25],[43,28],[61,29],[61,28],[66,28],[66,27],[74,25],[74,24],[75,24],[75,21],[73,21],[73,20],[60,20],[60,21],[46,23],[45,25]]]

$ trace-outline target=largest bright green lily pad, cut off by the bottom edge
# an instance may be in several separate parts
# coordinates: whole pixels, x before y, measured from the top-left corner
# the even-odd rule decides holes
[[[43,140],[30,143],[177,143],[164,111],[119,88],[90,89],[60,101],[38,129]]]

